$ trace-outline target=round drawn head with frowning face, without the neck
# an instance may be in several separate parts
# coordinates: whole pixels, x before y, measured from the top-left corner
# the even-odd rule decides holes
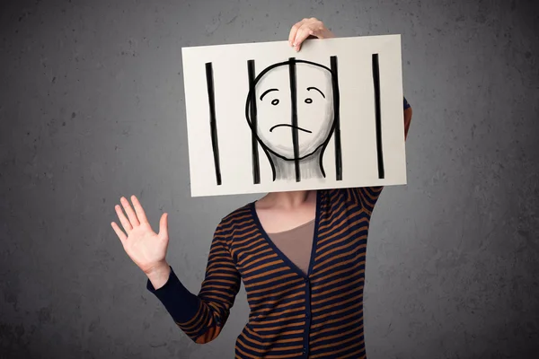
[[[297,77],[301,76],[303,80],[296,83],[289,80],[286,86],[282,85],[282,79],[280,86],[266,84],[271,75],[277,73],[276,70],[287,71],[291,65],[297,66]],[[310,73],[311,78],[307,80],[302,73]],[[313,76],[316,73],[318,75]],[[303,160],[328,144],[334,127],[332,77],[331,69],[327,66],[294,58],[268,66],[256,76],[247,96],[245,118],[267,154],[272,153],[285,161]],[[292,87],[295,89],[292,90]],[[294,95],[291,93],[293,91],[296,92]],[[257,92],[260,93],[258,96]],[[294,111],[290,103],[292,96],[296,97],[296,125],[291,113]],[[256,101],[254,121],[253,101]],[[316,106],[318,111],[311,110],[310,116],[305,116],[305,112],[309,112],[305,109]],[[280,111],[270,108],[280,108]],[[298,134],[296,153],[293,145],[294,128]]]

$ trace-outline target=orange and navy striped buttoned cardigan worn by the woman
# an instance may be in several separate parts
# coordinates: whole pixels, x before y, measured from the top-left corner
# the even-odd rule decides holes
[[[235,358],[365,358],[363,286],[370,216],[383,187],[318,190],[305,276],[270,241],[254,203],[218,224],[198,295],[174,274],[155,290],[196,343],[215,339],[243,280],[251,313]]]

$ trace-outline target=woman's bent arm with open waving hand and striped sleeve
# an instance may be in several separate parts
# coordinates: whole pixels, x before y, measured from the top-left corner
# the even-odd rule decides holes
[[[209,250],[206,277],[199,295],[195,295],[181,284],[165,259],[169,241],[168,214],[161,216],[156,233],[137,197],[131,196],[131,200],[134,208],[127,198],[120,198],[127,216],[120,206],[115,206],[124,231],[112,222],[114,232],[129,258],[148,276],[146,288],[163,302],[176,324],[196,343],[208,343],[225,326],[240,290],[240,274],[230,254],[227,234],[231,232],[232,221],[224,220],[217,226]]]

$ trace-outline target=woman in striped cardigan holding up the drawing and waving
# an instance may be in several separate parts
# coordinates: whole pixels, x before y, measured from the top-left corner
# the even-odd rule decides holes
[[[309,36],[333,37],[311,18],[297,22],[288,40],[299,51]],[[405,137],[410,122],[404,100]],[[196,343],[219,335],[243,280],[251,313],[236,358],[360,358],[368,223],[382,189],[276,192],[238,208],[216,228],[198,295],[165,260],[167,214],[155,233],[137,197],[134,209],[121,197],[128,217],[120,206],[116,212],[127,234],[111,225],[148,276],[147,289]]]

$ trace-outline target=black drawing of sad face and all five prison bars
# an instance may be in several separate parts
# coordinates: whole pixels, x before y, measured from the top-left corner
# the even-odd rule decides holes
[[[254,60],[247,61],[247,68],[249,93],[245,104],[245,118],[252,131],[253,183],[261,183],[259,144],[270,162],[273,180],[295,179],[299,182],[302,178],[325,178],[323,153],[331,136],[334,137],[335,144],[335,180],[342,180],[337,57],[330,57],[330,67],[290,57],[287,61],[266,67],[258,75],[255,75]],[[285,88],[282,85],[276,87],[265,85],[270,77],[278,74],[276,70],[279,69],[287,70],[288,86]],[[378,178],[384,179],[378,54],[372,55],[372,71],[375,92],[376,160]],[[304,81],[306,86],[298,86],[298,72],[306,73],[304,74],[307,79]],[[212,63],[206,64],[206,79],[216,183],[221,185]],[[277,79],[275,83],[283,83],[279,80],[282,79]],[[309,108],[310,111],[304,110]],[[288,131],[290,136],[282,136],[279,131]]]

